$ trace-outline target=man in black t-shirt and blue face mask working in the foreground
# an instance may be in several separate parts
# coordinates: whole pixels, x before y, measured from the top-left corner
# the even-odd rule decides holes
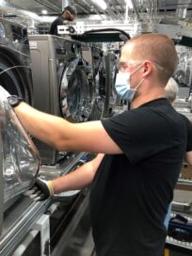
[[[122,48],[116,88],[131,110],[70,123],[28,104],[15,112],[32,136],[58,151],[97,152],[72,173],[36,185],[43,200],[91,184],[90,219],[97,256],[162,256],[164,219],[182,167],[186,127],[165,87],[177,65],[172,40],[144,34]]]

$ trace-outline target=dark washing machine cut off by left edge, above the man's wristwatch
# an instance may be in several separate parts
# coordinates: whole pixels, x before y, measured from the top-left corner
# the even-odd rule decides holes
[[[27,29],[6,19],[0,19],[0,85],[33,104]]]

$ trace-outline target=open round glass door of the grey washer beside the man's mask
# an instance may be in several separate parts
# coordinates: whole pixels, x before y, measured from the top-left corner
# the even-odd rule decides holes
[[[94,101],[93,79],[89,67],[72,61],[63,72],[60,85],[62,116],[72,122],[90,120]]]

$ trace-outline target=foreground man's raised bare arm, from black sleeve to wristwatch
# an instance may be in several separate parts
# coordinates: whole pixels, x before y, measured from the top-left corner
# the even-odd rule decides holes
[[[100,120],[71,123],[21,103],[15,112],[26,130],[58,151],[121,153]]]

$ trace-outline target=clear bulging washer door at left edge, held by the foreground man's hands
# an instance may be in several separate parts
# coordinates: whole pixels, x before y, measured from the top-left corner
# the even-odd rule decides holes
[[[0,88],[0,197],[4,210],[10,200],[29,189],[38,176],[40,155],[8,104],[7,93]]]

